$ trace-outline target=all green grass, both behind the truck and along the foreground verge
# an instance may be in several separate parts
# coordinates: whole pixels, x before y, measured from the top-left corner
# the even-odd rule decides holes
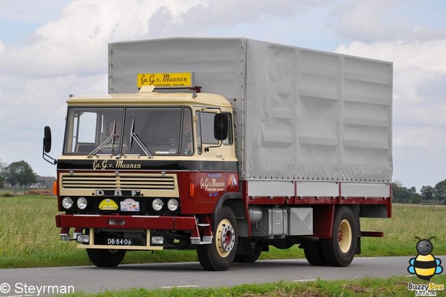
[[[0,268],[80,266],[90,265],[84,250],[75,243],[59,239],[55,227],[56,199],[49,196],[0,197]],[[362,256],[415,257],[417,239],[433,238],[434,255],[446,254],[446,207],[393,206],[390,219],[361,219],[364,231],[384,231],[383,238],[362,238]],[[261,259],[302,258],[302,250],[271,248]],[[123,263],[151,263],[169,261],[197,261],[194,251],[166,250],[160,252],[129,252]],[[444,267],[444,264],[443,264]],[[246,284],[237,287],[208,289],[131,289],[105,291],[100,294],[73,296],[415,296],[408,291],[408,282],[426,283],[417,277],[390,277],[389,279],[362,278],[296,283],[275,282]],[[446,284],[446,274],[436,275],[431,282]],[[446,295],[437,291],[437,296]]]

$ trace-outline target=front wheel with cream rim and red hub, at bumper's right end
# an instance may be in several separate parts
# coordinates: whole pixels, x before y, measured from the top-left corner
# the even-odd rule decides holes
[[[236,217],[228,206],[216,214],[212,243],[197,245],[197,256],[207,271],[226,271],[236,257],[238,229]]]

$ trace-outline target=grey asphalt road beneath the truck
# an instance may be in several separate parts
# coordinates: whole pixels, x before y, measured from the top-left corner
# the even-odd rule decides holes
[[[440,256],[443,263],[445,257]],[[228,271],[203,271],[198,262],[128,264],[116,268],[95,266],[16,268],[0,270],[0,296],[38,295],[54,289],[75,292],[130,288],[231,287],[238,284],[289,280],[346,280],[359,277],[408,275],[410,257],[357,257],[346,268],[310,266],[305,259],[234,263]],[[70,287],[72,286],[72,287]],[[9,288],[9,290],[8,290]],[[47,291],[45,291],[47,290]]]

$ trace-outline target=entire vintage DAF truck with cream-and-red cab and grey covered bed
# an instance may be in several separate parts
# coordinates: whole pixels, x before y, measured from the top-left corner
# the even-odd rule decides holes
[[[196,250],[224,271],[270,247],[348,266],[392,215],[392,63],[249,38],[110,43],[108,92],[70,96],[63,241],[95,266]]]

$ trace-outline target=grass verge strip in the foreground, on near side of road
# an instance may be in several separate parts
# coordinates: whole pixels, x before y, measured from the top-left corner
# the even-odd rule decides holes
[[[125,291],[104,291],[98,294],[84,294],[77,292],[66,296],[123,296],[123,297],[195,297],[195,296],[416,296],[415,291],[408,290],[408,283],[428,284],[419,278],[390,277],[381,279],[378,277],[364,277],[357,280],[315,280],[311,282],[270,282],[265,284],[243,284],[236,287],[219,288],[173,288],[173,289],[130,289]],[[431,282],[446,284],[446,275],[436,275]],[[443,296],[445,291],[435,292],[437,296]],[[424,293],[424,291],[422,291]]]

